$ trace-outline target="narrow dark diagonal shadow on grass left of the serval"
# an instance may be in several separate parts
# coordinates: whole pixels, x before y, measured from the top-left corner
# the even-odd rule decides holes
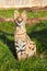
[[[14,47],[14,40],[10,40],[7,36],[13,36],[13,34],[8,34],[2,31],[0,31],[0,39],[3,42],[3,44],[7,44],[15,59],[17,59],[15,47]]]

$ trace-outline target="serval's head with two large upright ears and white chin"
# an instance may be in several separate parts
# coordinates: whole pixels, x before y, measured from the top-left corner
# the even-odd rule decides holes
[[[14,22],[17,26],[24,25],[26,23],[26,11],[23,11],[22,14],[19,11],[14,11]]]

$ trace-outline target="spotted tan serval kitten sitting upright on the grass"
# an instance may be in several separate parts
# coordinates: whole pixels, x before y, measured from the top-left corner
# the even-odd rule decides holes
[[[19,60],[36,55],[36,45],[26,34],[26,19],[25,11],[22,14],[20,14],[17,11],[14,12],[14,23],[16,24],[14,31],[14,45]]]

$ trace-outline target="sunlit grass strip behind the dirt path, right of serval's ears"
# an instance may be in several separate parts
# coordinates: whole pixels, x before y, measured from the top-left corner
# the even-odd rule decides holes
[[[35,12],[27,12],[28,17],[42,17],[47,16],[47,11],[35,11]]]

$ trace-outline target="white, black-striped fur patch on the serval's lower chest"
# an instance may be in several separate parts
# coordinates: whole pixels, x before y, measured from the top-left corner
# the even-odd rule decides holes
[[[17,52],[17,54],[21,52],[21,55],[22,55],[22,52],[25,51],[25,45],[26,45],[26,44],[23,43],[22,40],[15,42],[16,52]]]

